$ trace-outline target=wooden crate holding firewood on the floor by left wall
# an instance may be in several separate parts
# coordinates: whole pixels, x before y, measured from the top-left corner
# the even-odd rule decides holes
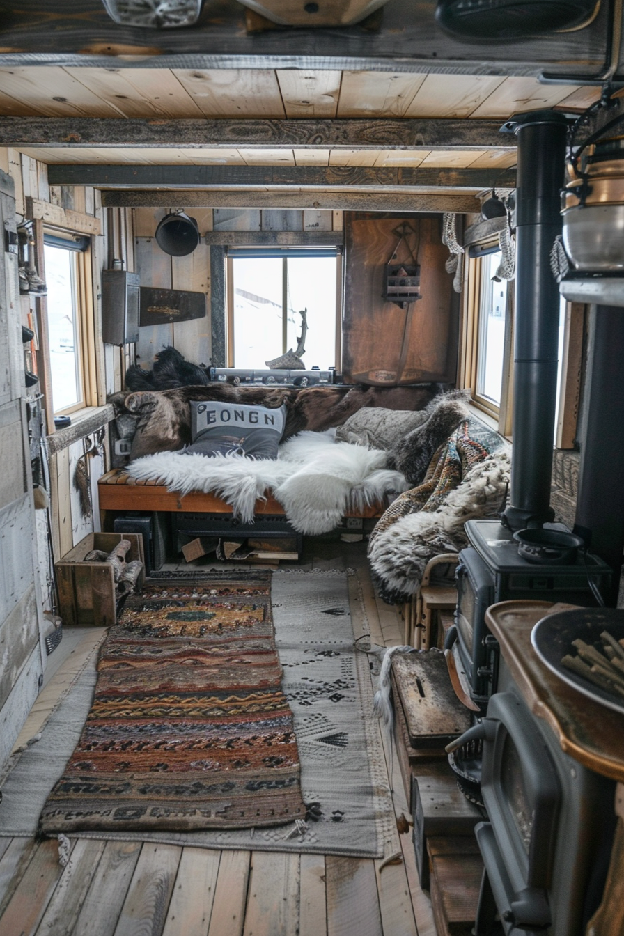
[[[112,565],[84,563],[82,560],[92,549],[111,552],[123,539],[132,544],[126,561],[139,559],[145,565],[143,537],[137,533],[90,533],[55,563],[60,613],[65,627],[75,627],[77,624],[109,627],[116,622]],[[143,584],[144,578],[143,572],[138,579],[138,587]]]

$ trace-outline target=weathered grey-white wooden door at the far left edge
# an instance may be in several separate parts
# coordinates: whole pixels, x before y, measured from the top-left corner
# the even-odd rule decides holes
[[[12,179],[0,170],[0,766],[43,675]]]

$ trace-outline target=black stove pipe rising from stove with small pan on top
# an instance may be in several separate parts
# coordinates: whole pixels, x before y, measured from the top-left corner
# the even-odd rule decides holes
[[[557,400],[559,285],[550,269],[561,233],[567,121],[552,110],[513,117],[516,188],[514,446],[509,504],[512,530],[552,520],[550,485]]]

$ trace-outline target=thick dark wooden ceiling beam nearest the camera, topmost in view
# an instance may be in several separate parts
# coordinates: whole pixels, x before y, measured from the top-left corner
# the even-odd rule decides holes
[[[587,28],[497,43],[462,42],[435,21],[435,0],[388,0],[378,32],[359,25],[280,29],[250,36],[236,0],[205,4],[196,26],[142,29],[117,25],[101,0],[7,0],[0,65],[179,68],[335,68],[537,75],[570,70],[593,74],[606,56],[610,4]],[[115,60],[115,56],[132,56]],[[146,57],[144,63],[137,57]]]

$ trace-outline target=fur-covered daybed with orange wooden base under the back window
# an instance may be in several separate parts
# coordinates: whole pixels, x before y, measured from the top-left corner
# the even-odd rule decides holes
[[[285,513],[304,534],[328,532],[343,516],[382,514],[370,538],[371,568],[385,600],[402,603],[417,592],[431,556],[465,545],[466,519],[496,515],[509,480],[501,436],[469,417],[462,393],[439,390],[208,385],[118,397],[121,418],[137,424],[133,461],[101,478],[100,506],[234,511],[245,523]],[[285,406],[279,458],[184,454],[191,403],[215,399]]]

